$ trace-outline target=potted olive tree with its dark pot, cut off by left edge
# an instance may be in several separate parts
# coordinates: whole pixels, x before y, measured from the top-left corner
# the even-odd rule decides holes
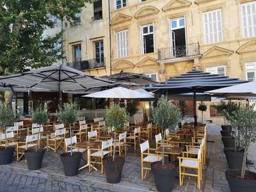
[[[0,128],[4,132],[4,138],[6,139],[6,127],[13,125],[15,116],[12,108],[4,102],[0,102]],[[0,164],[12,163],[12,156],[15,148],[8,146],[8,141],[5,142],[5,147],[0,148]]]

